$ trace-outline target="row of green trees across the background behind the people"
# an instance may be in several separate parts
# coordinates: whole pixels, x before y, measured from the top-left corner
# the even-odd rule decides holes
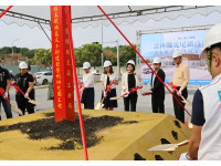
[[[51,50],[38,49],[30,50],[28,48],[17,48],[13,46],[14,53],[21,53],[22,56],[33,59],[41,64],[51,65],[52,64],[52,53]],[[0,49],[0,59],[4,55],[12,53],[11,46],[3,46]],[[106,46],[103,48],[104,61],[110,60],[113,65],[117,65],[117,48]],[[82,66],[84,62],[90,62],[92,66],[102,65],[102,45],[99,43],[84,44],[81,48],[74,49],[76,66]],[[136,60],[136,52],[130,45],[119,46],[119,62],[124,66],[128,60]]]

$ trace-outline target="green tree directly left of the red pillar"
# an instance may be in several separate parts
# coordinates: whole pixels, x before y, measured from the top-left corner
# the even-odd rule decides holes
[[[38,49],[34,53],[34,60],[46,66],[52,65],[52,52],[51,49]]]

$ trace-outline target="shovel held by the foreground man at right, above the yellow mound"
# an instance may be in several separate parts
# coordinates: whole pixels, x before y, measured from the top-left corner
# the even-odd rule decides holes
[[[183,141],[181,143],[178,144],[164,144],[164,145],[157,145],[154,146],[147,151],[155,151],[155,152],[173,152],[177,147],[187,145],[189,143],[189,141]]]

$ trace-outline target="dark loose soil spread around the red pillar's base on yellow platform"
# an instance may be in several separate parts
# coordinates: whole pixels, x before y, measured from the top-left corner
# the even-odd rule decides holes
[[[45,117],[38,121],[18,123],[9,126],[0,126],[0,132],[20,129],[22,133],[29,135],[30,139],[43,139],[43,138],[56,138],[63,141],[62,144],[54,147],[45,147],[45,149],[80,149],[82,147],[82,136],[80,128],[78,116],[76,115],[75,122],[61,121],[55,123],[54,113],[45,114]],[[87,147],[92,147],[102,141],[102,136],[97,136],[96,133],[101,129],[115,126],[119,123],[131,124],[136,121],[123,122],[122,117],[117,116],[83,116],[84,129]]]

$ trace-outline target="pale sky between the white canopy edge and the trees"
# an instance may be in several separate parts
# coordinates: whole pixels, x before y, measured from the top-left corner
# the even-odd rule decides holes
[[[200,20],[200,21],[199,21]],[[202,17],[196,14],[194,17],[187,19],[185,17],[179,17],[175,20],[169,20],[167,18],[161,21],[148,20],[145,23],[139,21],[134,22],[133,24],[123,23],[118,28],[128,38],[131,43],[136,43],[136,31],[137,30],[149,30],[149,29],[168,29],[187,27],[187,25],[201,25],[201,24],[215,24],[221,22],[221,13],[212,12],[208,17]],[[0,21],[0,48],[11,46],[12,42],[15,46],[29,48],[29,49],[39,49],[51,48],[51,43],[39,28],[30,29],[28,25],[19,27],[17,24],[7,25],[4,22]],[[45,29],[49,37],[51,32]],[[102,41],[102,27],[93,28],[87,27],[86,29],[76,28],[73,30],[74,46],[78,48],[82,44],[101,42]],[[115,46],[116,41],[119,40],[119,44],[124,45],[127,42],[120,37],[113,25],[103,27],[103,41],[104,46]],[[105,43],[112,42],[112,43]]]

